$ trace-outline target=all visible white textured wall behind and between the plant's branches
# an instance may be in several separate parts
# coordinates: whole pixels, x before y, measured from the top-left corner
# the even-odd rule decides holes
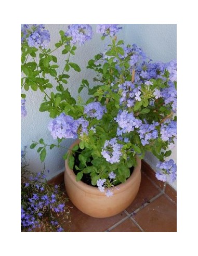
[[[136,43],[141,47],[144,52],[147,53],[154,61],[168,62],[172,59],[176,59],[176,25],[175,24],[123,24],[123,30],[117,35],[118,40],[124,39],[126,44]],[[46,29],[49,30],[51,35],[50,48],[54,49],[54,44],[59,40],[59,30],[66,31],[68,24],[46,24]],[[92,78],[95,76],[95,72],[90,69],[86,69],[87,62],[93,58],[94,55],[103,51],[103,45],[108,43],[105,39],[101,41],[100,34],[97,34],[96,25],[92,25],[94,30],[93,39],[86,42],[85,45],[77,47],[76,55],[72,56],[71,61],[78,63],[81,67],[81,72],[71,72],[71,80],[69,80],[68,87],[73,97],[77,95],[77,89],[82,79],[87,79],[91,84]],[[56,52],[55,52],[56,53]],[[64,66],[64,56],[61,52],[57,52],[54,55],[57,56],[62,71]],[[39,106],[43,99],[41,92],[26,92],[27,94],[27,116],[21,119],[21,149],[24,146],[30,146],[32,140],[38,141],[39,138],[43,138],[47,144],[54,143],[54,139],[51,137],[47,125],[50,121],[48,112],[39,112]],[[84,99],[87,98],[86,91],[82,95]],[[72,139],[68,139],[65,143],[65,147],[71,145]],[[62,155],[65,153],[65,149],[54,148],[47,151],[47,157],[45,160],[45,169],[50,173],[48,178],[51,178],[64,170],[64,160]],[[171,156],[176,161],[176,148]],[[152,154],[148,153],[145,160],[155,169],[156,159]],[[39,160],[39,155],[35,149],[27,148],[27,162],[29,163],[29,169],[31,171],[42,171],[44,164]],[[176,183],[174,184],[176,188]]]

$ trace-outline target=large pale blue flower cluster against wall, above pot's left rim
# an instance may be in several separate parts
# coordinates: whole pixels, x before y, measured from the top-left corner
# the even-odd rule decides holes
[[[51,120],[48,129],[54,139],[57,138],[77,138],[77,135],[88,133],[89,122],[82,117],[74,120],[73,117],[61,113],[60,116]]]

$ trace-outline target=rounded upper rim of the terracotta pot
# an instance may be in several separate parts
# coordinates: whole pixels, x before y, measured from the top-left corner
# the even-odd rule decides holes
[[[80,139],[76,139],[75,142],[70,146],[70,148],[68,150],[68,156],[71,154],[71,149],[75,145],[79,144],[79,142],[80,142]],[[136,182],[136,180],[138,178],[139,169],[141,170],[141,160],[137,156],[136,156],[136,160],[137,160],[137,165],[134,167],[133,173],[130,175],[129,178],[127,178],[126,182],[112,187],[112,188],[114,188],[113,189],[114,194],[122,193],[122,191],[126,190],[130,186],[133,186],[133,183]],[[97,196],[104,195],[104,193],[101,193],[97,187],[90,186],[82,181],[76,181],[76,175],[75,175],[74,171],[72,169],[70,169],[70,167],[68,165],[68,160],[65,160],[65,172],[68,173],[68,176],[70,177],[71,181],[73,183],[75,183],[75,185],[78,188],[84,190],[85,192],[90,192],[91,194],[95,194]],[[105,188],[104,191],[107,191],[107,189],[108,188]]]

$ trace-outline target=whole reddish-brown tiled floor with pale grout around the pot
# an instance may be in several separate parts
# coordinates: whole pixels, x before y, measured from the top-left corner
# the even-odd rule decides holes
[[[70,232],[177,232],[176,191],[157,181],[153,171],[145,167],[148,166],[143,163],[136,199],[120,214],[97,219],[82,213],[69,201]]]

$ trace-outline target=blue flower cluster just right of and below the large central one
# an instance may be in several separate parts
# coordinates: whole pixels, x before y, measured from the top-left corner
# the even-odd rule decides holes
[[[152,124],[148,124],[146,120],[139,127],[138,133],[141,139],[141,144],[143,146],[150,143],[150,140],[157,138],[158,132],[155,127],[159,125],[158,122],[154,122]]]

